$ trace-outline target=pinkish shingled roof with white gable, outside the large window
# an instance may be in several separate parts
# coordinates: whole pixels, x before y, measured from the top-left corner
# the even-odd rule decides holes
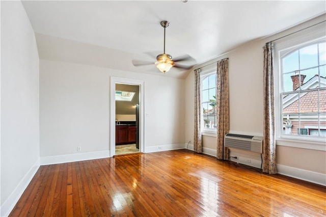
[[[320,83],[326,86],[326,78],[320,76]],[[301,86],[301,90],[308,90],[318,87],[318,75],[309,79]],[[300,113],[318,112],[317,91],[301,93]],[[298,113],[297,94],[289,94],[283,98],[283,113]],[[319,112],[326,112],[326,90],[319,91]]]

